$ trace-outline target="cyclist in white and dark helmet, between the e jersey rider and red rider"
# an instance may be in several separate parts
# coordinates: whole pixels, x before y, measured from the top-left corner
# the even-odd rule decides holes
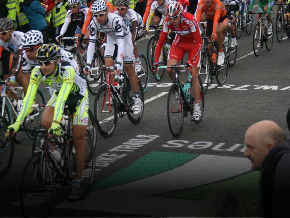
[[[143,20],[140,14],[135,12],[133,9],[129,8],[129,0],[116,0],[115,5],[117,11],[115,14],[121,16],[124,22],[129,26],[129,29],[132,34],[132,43],[134,47],[134,56],[135,56],[135,72],[139,73],[141,71],[141,63],[138,56],[136,36],[138,27],[143,27]]]

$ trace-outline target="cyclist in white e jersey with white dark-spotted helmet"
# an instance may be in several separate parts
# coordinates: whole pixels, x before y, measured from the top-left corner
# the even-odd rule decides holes
[[[94,39],[97,38],[97,32],[107,33],[106,49],[104,53],[105,65],[115,67],[118,72],[122,71],[121,63],[124,61],[124,67],[129,76],[129,81],[134,92],[133,113],[139,114],[142,108],[142,101],[139,98],[138,79],[133,69],[133,44],[129,27],[118,15],[107,11],[107,5],[104,0],[97,0],[92,5],[94,15],[90,23],[90,41],[87,51],[87,69],[92,64],[95,51]],[[116,52],[117,50],[117,52]],[[116,56],[117,53],[117,56]],[[88,73],[88,71],[85,71]],[[114,78],[111,77],[114,81]]]

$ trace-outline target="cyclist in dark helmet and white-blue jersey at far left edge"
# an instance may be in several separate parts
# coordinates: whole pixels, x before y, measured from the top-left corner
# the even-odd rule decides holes
[[[17,86],[17,81],[22,85],[24,93],[26,93],[29,76],[20,73],[21,68],[21,54],[22,54],[22,47],[21,47],[21,38],[23,37],[24,33],[14,31],[14,22],[9,18],[0,18],[0,47],[3,47],[5,50],[9,51],[13,54],[13,61],[10,67],[9,72],[3,72],[4,79],[9,77],[8,85]],[[9,64],[9,63],[6,63]],[[28,81],[25,83],[25,81]],[[11,92],[10,90],[7,91],[7,95],[9,97],[13,97],[16,99],[16,95]]]

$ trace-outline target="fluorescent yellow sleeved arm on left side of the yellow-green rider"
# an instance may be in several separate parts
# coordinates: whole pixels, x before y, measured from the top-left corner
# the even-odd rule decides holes
[[[41,71],[39,69],[40,67],[35,67],[32,70],[31,73],[31,77],[30,77],[30,81],[29,81],[29,85],[26,91],[26,95],[23,99],[22,105],[20,107],[20,112],[17,116],[16,121],[22,122],[24,120],[24,118],[26,117],[26,115],[28,114],[33,101],[34,101],[34,97],[36,95],[39,83],[41,82]]]

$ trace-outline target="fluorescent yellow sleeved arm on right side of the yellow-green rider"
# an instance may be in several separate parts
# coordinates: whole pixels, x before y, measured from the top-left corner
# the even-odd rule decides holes
[[[64,71],[63,84],[59,94],[57,94],[56,104],[54,107],[53,121],[61,122],[64,113],[65,102],[67,101],[71,89],[74,85],[75,73],[75,69],[72,66],[69,66]]]

